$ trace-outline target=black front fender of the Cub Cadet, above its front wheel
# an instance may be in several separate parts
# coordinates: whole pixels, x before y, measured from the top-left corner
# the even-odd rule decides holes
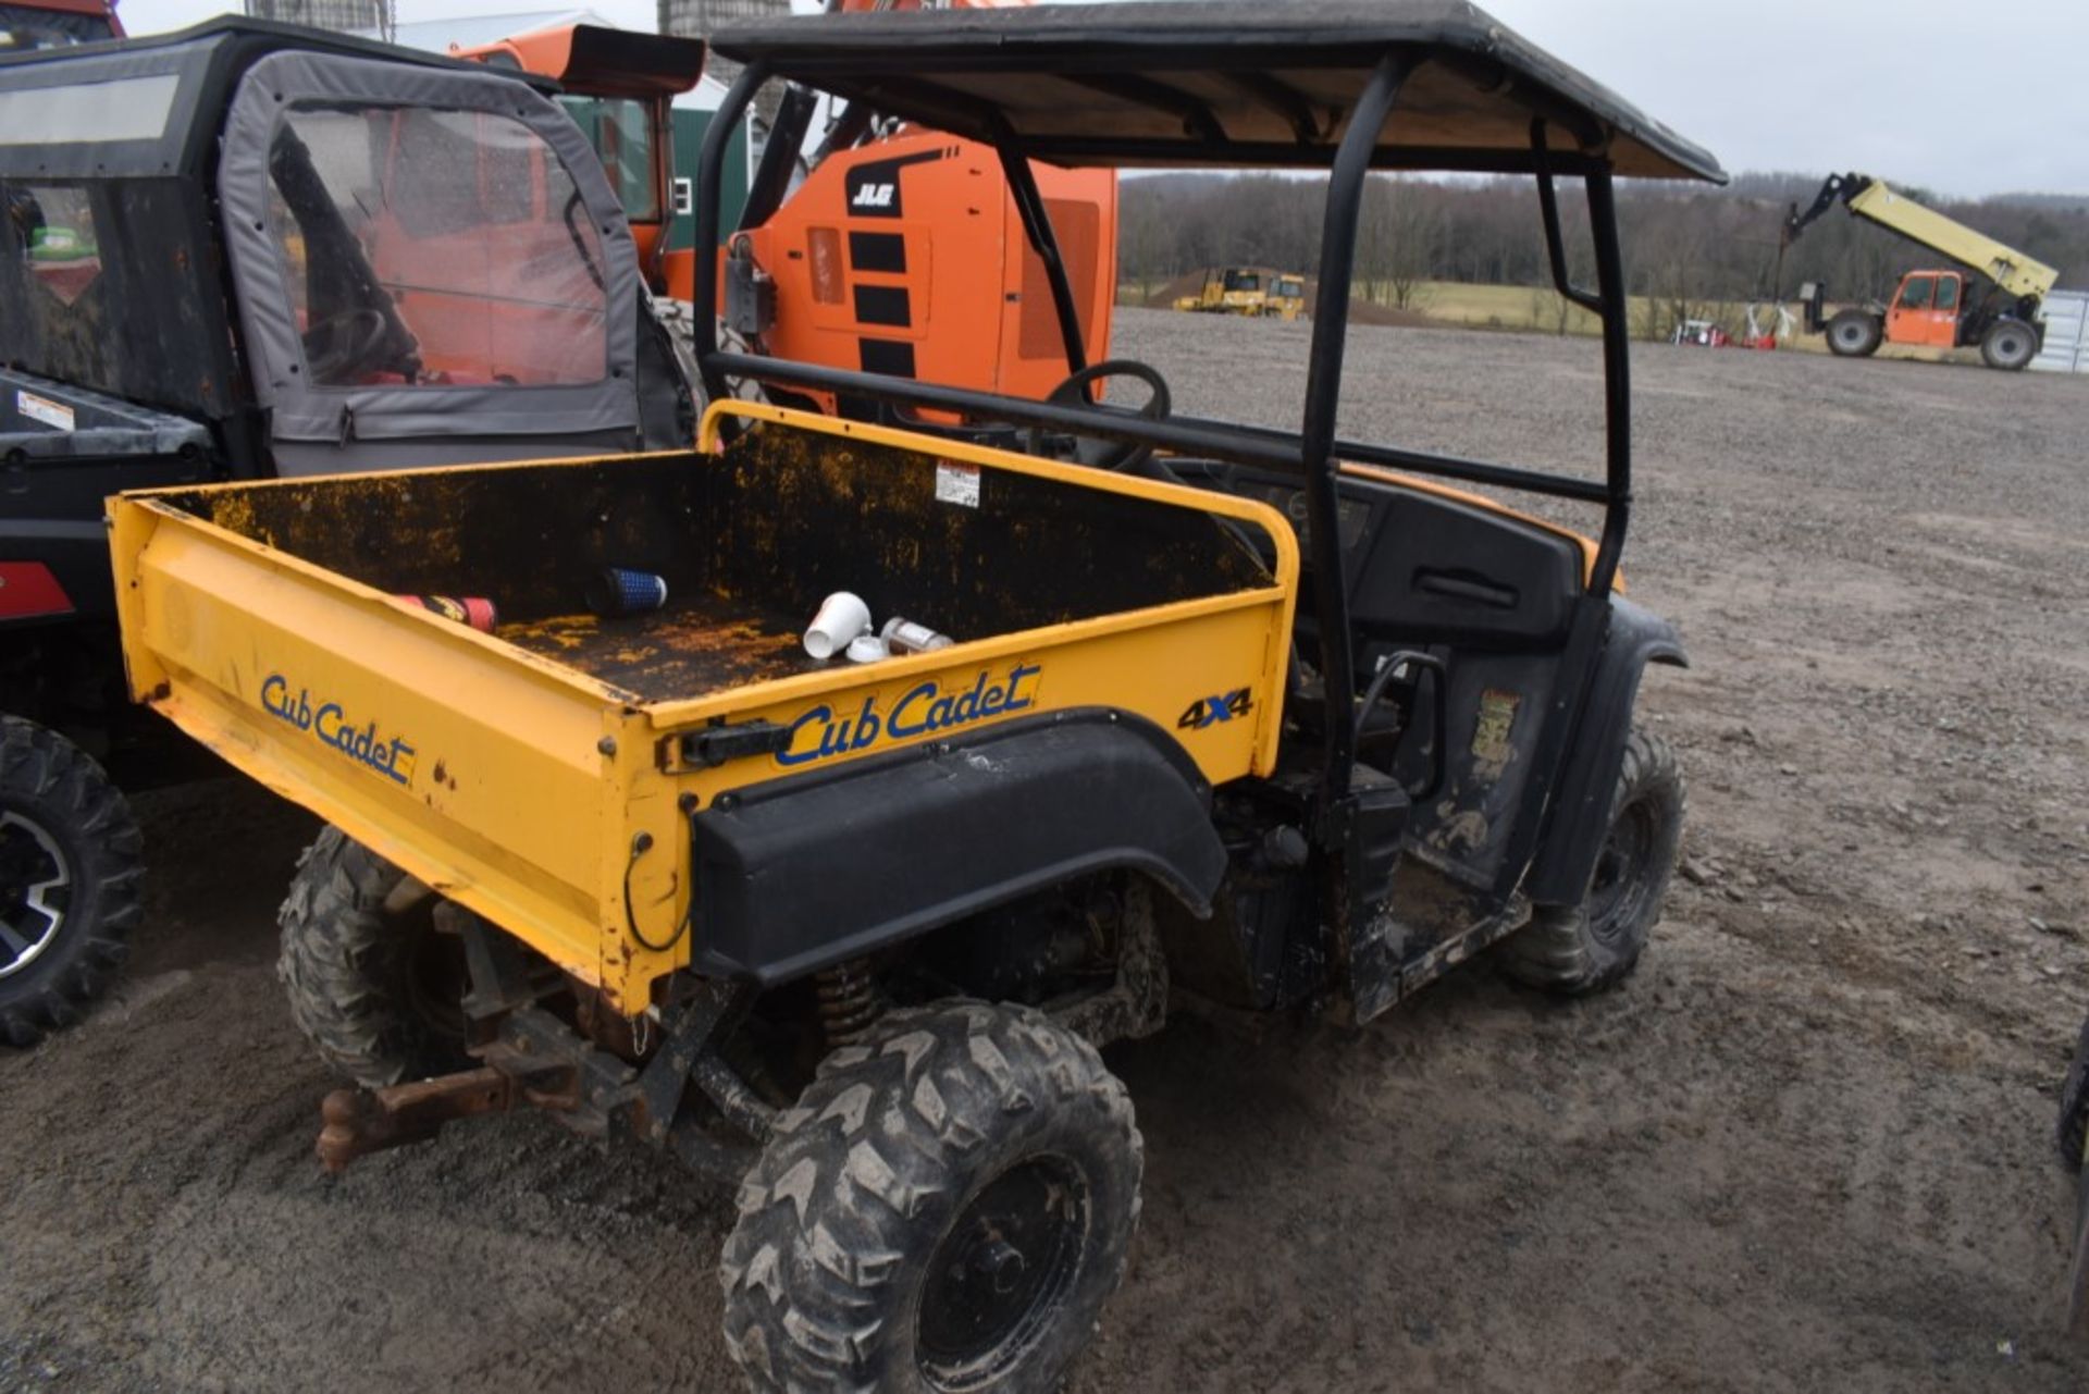
[[[1611,625],[1596,658],[1579,740],[1546,813],[1546,832],[1523,890],[1538,905],[1579,905],[1611,823],[1611,796],[1625,763],[1625,738],[1648,663],[1690,667],[1675,625],[1621,596],[1611,598]]]

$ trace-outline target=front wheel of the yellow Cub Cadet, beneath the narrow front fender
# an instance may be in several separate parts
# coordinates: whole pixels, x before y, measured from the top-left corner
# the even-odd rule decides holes
[[[1567,997],[1621,982],[1661,922],[1682,836],[1682,765],[1665,740],[1634,729],[1588,892],[1579,905],[1540,905],[1531,913],[1502,945],[1508,974]]]

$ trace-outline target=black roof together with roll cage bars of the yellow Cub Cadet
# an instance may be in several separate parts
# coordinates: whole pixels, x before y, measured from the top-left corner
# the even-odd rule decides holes
[[[1613,176],[1726,182],[1719,161],[1498,25],[1464,0],[1151,0],[1147,4],[1040,4],[1028,8],[842,13],[727,27],[712,52],[746,63],[704,140],[698,171],[698,245],[719,232],[719,188],[733,125],[756,88],[781,77],[829,92],[852,111],[919,121],[994,146],[1044,265],[1067,368],[1067,387],[1086,362],[1051,209],[1030,161],[1065,165],[1324,167],[1320,288],[1297,435],[1164,414],[1076,397],[1026,401],[911,382],[819,364],[723,351],[717,339],[717,282],[696,284],[696,359],[712,399],[733,376],[790,389],[861,395],[875,410],[932,408],[980,422],[1067,431],[1182,458],[1207,458],[1297,472],[1304,481],[1306,545],[1316,575],[1343,577],[1341,462],[1389,466],[1464,483],[1602,504],[1602,541],[1586,571],[1573,629],[1571,671],[1592,671],[1590,654],[1611,623],[1611,585],[1632,512],[1632,389],[1623,255]],[[794,102],[806,109],[808,102]],[[771,155],[785,146],[771,146]],[[783,161],[767,161],[783,169]],[[1379,169],[1466,169],[1538,176],[1554,288],[1602,322],[1604,479],[1531,470],[1431,451],[1345,441],[1337,435],[1343,343],[1356,272],[1366,176]],[[1558,215],[1556,173],[1579,176],[1588,199],[1594,288],[1575,284]],[[1097,372],[1126,366],[1099,364]],[[1063,391],[1063,389],[1061,389]],[[1155,468],[1172,470],[1153,456]],[[1176,477],[1178,481],[1182,477]],[[1347,587],[1312,587],[1327,711],[1324,777],[1316,826],[1335,838],[1358,803],[1358,654]],[[1393,671],[1393,669],[1383,669]],[[1579,681],[1579,679],[1577,679]],[[1588,690],[1586,686],[1581,688]],[[1366,698],[1368,704],[1368,698]],[[1548,717],[1535,757],[1535,790],[1552,788],[1573,746],[1575,711]],[[1558,731],[1558,736],[1554,736]],[[1504,865],[1521,876],[1550,817],[1548,798],[1529,800],[1508,834]],[[1327,821],[1318,821],[1320,817]],[[1517,851],[1521,849],[1521,851]],[[1506,892],[1504,882],[1498,890]]]

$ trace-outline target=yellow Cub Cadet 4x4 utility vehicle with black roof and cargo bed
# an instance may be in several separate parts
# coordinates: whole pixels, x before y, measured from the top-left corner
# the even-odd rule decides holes
[[[1099,1047],[1182,1001],[1368,1022],[1487,949],[1581,993],[1646,947],[1684,790],[1634,706],[1684,654],[1617,585],[1613,178],[1723,176],[1441,0],[714,46],[744,71],[698,245],[765,82],[986,142],[1063,389],[913,378],[902,305],[863,372],[740,353],[700,278],[694,451],[117,499],[130,681],[330,823],[282,911],[292,1014],[355,1081],[330,1166],[545,1110],[737,1183],[725,1338],[754,1388],[1051,1390],[1139,1218]],[[1299,184],[1327,201],[1301,428],[1088,364],[1032,161],[1329,171]],[[1337,431],[1364,180],[1410,167],[1535,182],[1558,291],[1602,322],[1600,477]],[[1095,403],[1105,378],[1143,403]],[[850,414],[754,399],[808,393]]]

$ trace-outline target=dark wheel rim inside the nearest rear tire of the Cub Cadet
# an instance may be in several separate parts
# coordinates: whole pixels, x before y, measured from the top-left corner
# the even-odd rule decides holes
[[[921,1290],[921,1373],[980,1390],[1036,1350],[1074,1287],[1088,1235],[1088,1185],[1059,1156],[1017,1162],[944,1231]]]

